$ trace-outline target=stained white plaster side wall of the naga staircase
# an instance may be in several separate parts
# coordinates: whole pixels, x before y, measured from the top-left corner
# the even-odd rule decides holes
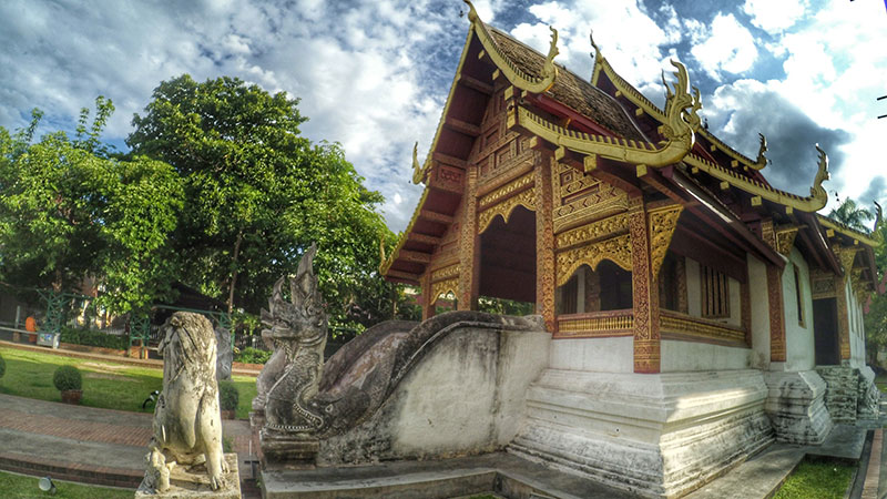
[[[546,332],[459,327],[412,366],[369,419],[320,441],[319,466],[489,452],[517,435]]]

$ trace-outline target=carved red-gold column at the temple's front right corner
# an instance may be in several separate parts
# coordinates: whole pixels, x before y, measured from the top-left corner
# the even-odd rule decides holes
[[[629,200],[632,301],[634,306],[634,371],[660,370],[659,286],[650,258],[650,238],[643,196]]]

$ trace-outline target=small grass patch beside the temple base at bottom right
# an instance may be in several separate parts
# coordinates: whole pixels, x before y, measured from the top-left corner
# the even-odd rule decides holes
[[[774,499],[842,499],[850,486],[855,466],[835,461],[802,461]]]

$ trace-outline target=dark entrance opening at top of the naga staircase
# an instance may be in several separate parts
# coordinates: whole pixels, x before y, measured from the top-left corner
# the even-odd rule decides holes
[[[508,222],[496,216],[480,235],[479,294],[481,310],[534,313],[536,213],[518,206]]]

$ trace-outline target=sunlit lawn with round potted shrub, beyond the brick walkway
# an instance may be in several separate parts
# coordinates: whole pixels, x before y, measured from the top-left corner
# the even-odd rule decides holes
[[[142,403],[151,391],[163,387],[161,369],[2,347],[0,355],[7,361],[7,373],[0,378],[0,394],[61,401],[61,394],[52,385],[52,374],[61,365],[72,365],[81,370],[81,404],[88,407],[153,413],[153,405],[142,409]],[[249,376],[232,378],[241,395],[237,418],[246,418],[256,396],[256,380]]]

